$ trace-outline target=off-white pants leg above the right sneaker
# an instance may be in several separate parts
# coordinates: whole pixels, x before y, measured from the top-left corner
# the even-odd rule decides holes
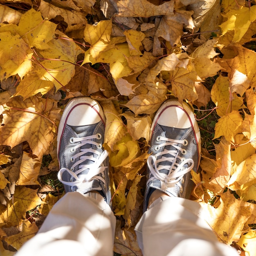
[[[144,256],[239,256],[220,243],[200,218],[200,204],[164,196],[150,205],[136,225]]]

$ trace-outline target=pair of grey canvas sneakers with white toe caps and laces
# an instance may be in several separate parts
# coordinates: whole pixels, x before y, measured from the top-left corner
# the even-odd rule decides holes
[[[58,128],[58,179],[66,192],[98,191],[111,204],[108,153],[103,150],[106,118],[90,97],[72,99]],[[144,211],[150,195],[158,189],[169,196],[189,198],[191,170],[200,161],[200,132],[193,111],[177,99],[165,101],[150,129],[150,156]]]

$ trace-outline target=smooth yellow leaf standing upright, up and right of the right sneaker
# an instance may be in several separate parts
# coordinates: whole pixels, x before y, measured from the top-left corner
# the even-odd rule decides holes
[[[222,75],[216,79],[211,89],[211,100],[215,103],[216,112],[220,117],[243,106],[243,98],[229,92],[229,78]]]

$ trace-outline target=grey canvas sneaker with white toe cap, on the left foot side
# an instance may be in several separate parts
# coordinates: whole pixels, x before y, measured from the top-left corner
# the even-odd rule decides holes
[[[57,136],[58,179],[65,192],[98,191],[110,205],[108,152],[102,148],[105,123],[101,106],[90,97],[67,104]]]

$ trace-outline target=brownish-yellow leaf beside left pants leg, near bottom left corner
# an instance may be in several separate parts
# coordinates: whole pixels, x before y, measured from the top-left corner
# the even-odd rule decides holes
[[[11,245],[15,249],[20,249],[20,247],[32,238],[38,232],[38,227],[36,223],[31,223],[29,220],[24,220],[22,223],[22,231],[16,235],[8,236],[5,241],[8,245]]]

